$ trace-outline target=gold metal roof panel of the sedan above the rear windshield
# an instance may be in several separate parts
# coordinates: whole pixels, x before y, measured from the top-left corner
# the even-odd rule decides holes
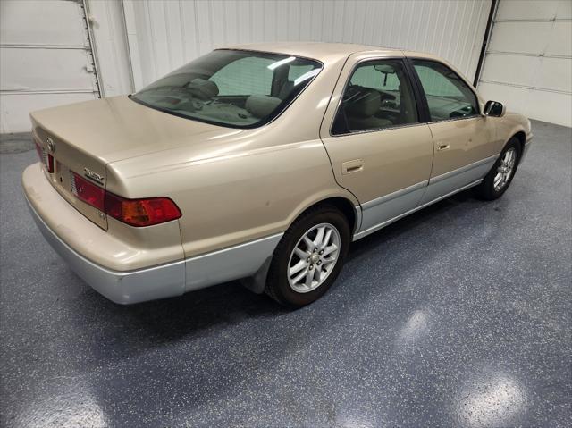
[[[274,42],[253,43],[247,45],[225,46],[224,49],[240,49],[276,54],[303,56],[327,63],[332,60],[346,58],[357,52],[375,52],[403,55],[400,49],[391,47],[354,45],[350,43],[324,43],[324,42]]]

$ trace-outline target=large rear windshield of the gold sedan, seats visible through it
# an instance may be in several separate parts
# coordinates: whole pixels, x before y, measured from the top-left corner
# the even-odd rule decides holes
[[[254,128],[282,113],[321,68],[307,58],[222,49],[151,83],[131,99],[201,122]]]

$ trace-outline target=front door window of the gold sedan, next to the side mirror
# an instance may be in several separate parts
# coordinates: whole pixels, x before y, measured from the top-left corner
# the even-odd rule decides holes
[[[479,113],[475,93],[458,74],[442,63],[413,60],[425,91],[431,120],[448,121]]]

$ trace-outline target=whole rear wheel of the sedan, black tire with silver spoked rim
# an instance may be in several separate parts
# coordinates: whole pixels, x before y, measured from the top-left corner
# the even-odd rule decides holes
[[[292,307],[320,298],[338,277],[349,240],[348,221],[334,206],[318,206],[302,214],[274,251],[266,294]]]

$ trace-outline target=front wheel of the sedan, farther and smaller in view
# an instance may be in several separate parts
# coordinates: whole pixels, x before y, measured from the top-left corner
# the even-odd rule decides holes
[[[501,197],[509,189],[510,182],[517,172],[519,160],[520,143],[517,138],[510,138],[491,171],[484,177],[483,182],[475,188],[476,195],[484,200]]]

